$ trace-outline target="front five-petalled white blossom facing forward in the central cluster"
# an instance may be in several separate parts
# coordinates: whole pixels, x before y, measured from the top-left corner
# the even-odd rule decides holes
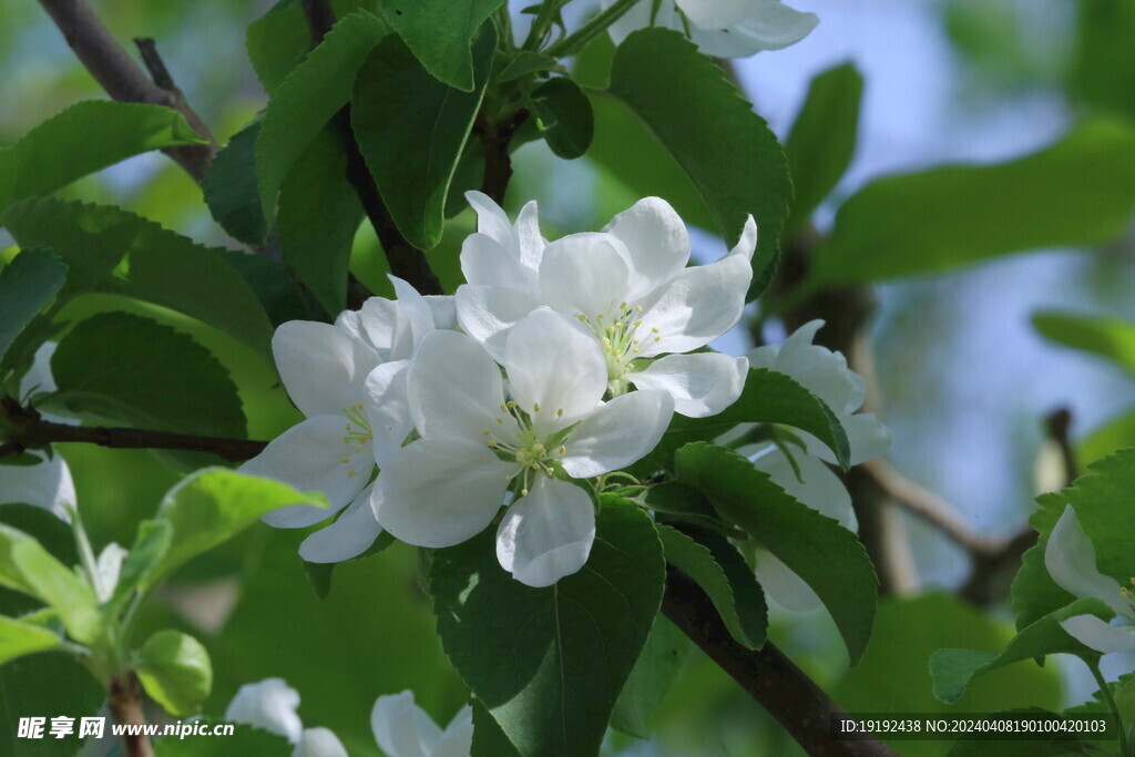
[[[378,522],[398,539],[448,547],[476,536],[515,498],[497,530],[512,575],[550,586],[578,571],[595,538],[587,479],[642,457],[673,413],[663,392],[603,403],[607,368],[592,335],[547,309],[507,335],[501,368],[469,336],[429,334],[410,368],[410,412],[421,438],[372,490]]]

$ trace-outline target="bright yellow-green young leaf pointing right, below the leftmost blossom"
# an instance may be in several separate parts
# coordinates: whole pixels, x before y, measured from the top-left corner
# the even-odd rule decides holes
[[[174,527],[173,544],[140,588],[152,588],[190,557],[243,531],[264,513],[287,505],[326,507],[327,499],[226,469],[205,469],[183,479],[158,508],[158,519]]]

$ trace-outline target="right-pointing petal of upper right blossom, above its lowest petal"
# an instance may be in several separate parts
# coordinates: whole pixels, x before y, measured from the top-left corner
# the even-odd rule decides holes
[[[642,356],[689,352],[733,328],[745,310],[751,278],[753,267],[743,255],[683,270],[642,314],[637,331]]]

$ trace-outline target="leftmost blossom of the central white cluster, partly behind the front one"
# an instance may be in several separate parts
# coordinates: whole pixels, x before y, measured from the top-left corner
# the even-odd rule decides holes
[[[272,353],[288,395],[306,420],[274,439],[241,471],[327,495],[329,508],[283,507],[264,515],[277,528],[304,528],[346,507],[300,546],[309,562],[338,562],[364,552],[381,532],[371,512],[376,465],[388,462],[413,426],[405,371],[419,342],[454,322],[452,298],[422,297],[390,277],[397,301],[372,297],[335,325],[288,321]]]

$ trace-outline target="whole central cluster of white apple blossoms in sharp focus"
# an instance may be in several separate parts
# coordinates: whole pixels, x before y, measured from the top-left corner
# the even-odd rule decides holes
[[[501,565],[550,586],[590,554],[590,480],[650,452],[674,412],[712,415],[740,395],[747,359],[688,353],[741,317],[751,218],[728,255],[688,268],[686,227],[658,199],[555,242],[540,235],[535,203],[513,224],[487,196],[469,200],[478,232],[453,297],[395,279],[396,301],[277,330],[280,377],[306,420],[242,470],[321,490],[344,511],[303,542],[309,561],[361,554],[380,529],[453,546],[507,506]],[[266,520],[325,518],[293,507]]]

